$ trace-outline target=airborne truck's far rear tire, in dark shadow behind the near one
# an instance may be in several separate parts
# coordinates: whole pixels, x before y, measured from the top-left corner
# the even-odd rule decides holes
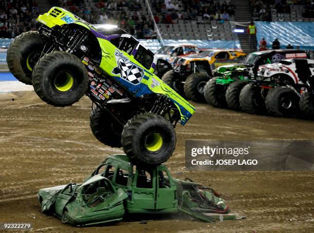
[[[111,147],[121,147],[123,126],[106,110],[94,107],[90,112],[90,128],[95,138]]]

